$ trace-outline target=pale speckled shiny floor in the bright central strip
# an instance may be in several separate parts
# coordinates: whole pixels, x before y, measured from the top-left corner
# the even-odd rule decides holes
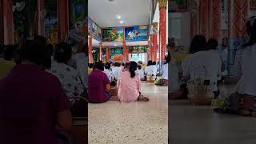
[[[142,83],[150,102],[89,104],[90,144],[166,144],[168,88]]]

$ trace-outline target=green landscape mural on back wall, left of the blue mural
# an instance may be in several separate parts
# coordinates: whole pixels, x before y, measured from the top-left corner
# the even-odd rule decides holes
[[[110,27],[102,29],[103,42],[123,42],[123,27]]]

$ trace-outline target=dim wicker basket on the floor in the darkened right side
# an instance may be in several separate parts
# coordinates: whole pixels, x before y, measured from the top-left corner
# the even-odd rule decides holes
[[[189,90],[188,98],[193,105],[210,105],[214,98],[214,86],[188,84]]]

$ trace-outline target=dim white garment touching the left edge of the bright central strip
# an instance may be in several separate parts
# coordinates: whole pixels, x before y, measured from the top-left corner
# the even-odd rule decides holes
[[[83,85],[87,88],[88,87],[88,57],[84,53],[77,53],[75,54],[75,58],[77,60],[77,70],[79,77],[82,80]]]

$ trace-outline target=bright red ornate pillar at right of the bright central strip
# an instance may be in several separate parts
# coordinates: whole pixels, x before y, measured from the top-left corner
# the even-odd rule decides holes
[[[160,23],[160,58],[163,61],[166,56],[166,6],[167,0],[159,0]]]

